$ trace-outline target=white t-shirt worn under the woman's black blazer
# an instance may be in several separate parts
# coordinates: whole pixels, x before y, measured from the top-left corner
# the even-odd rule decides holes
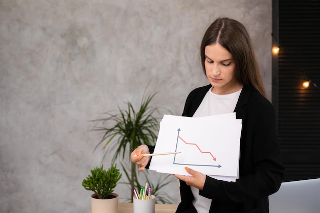
[[[234,112],[242,89],[231,94],[215,94],[211,89],[212,87],[207,94],[205,94],[193,117]],[[199,190],[196,187],[191,186],[191,191],[194,196],[192,204],[198,213],[208,213],[212,199],[200,196]]]

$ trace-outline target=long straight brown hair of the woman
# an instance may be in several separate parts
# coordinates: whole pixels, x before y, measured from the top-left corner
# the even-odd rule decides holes
[[[256,54],[250,36],[242,23],[231,18],[218,18],[204,33],[200,46],[204,74],[204,49],[205,46],[214,43],[219,43],[233,56],[235,75],[239,82],[266,97]]]

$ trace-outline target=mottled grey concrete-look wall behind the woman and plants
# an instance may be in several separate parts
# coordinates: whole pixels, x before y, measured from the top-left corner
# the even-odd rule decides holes
[[[89,121],[148,84],[180,115],[208,83],[198,48],[220,16],[247,27],[270,99],[271,0],[0,0],[0,212],[88,212],[81,181],[103,156]]]

